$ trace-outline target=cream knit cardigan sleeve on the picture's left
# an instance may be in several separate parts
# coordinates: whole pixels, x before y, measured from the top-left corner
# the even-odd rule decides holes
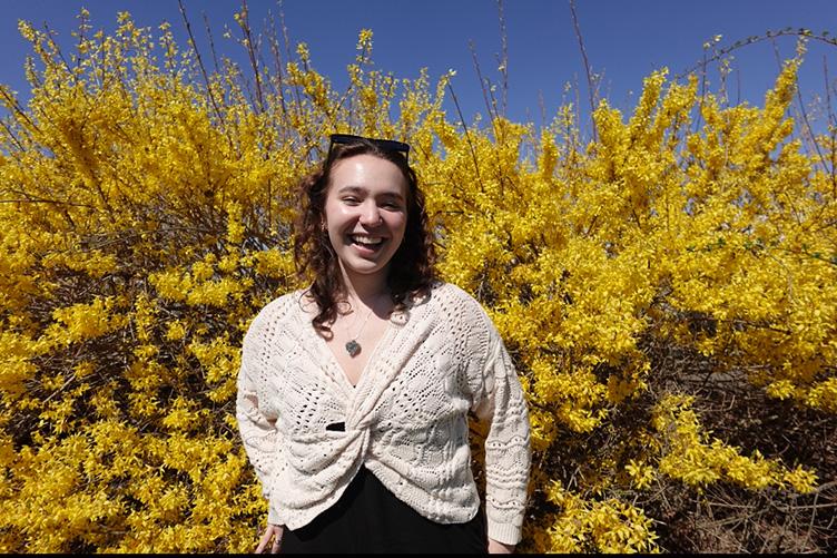
[[[267,370],[263,342],[259,339],[260,321],[255,320],[242,346],[242,368],[238,372],[236,421],[242,442],[256,476],[262,493],[268,501],[267,522],[276,525],[278,511],[272,502],[273,479],[280,467],[280,444],[276,429],[277,414],[267,404]]]

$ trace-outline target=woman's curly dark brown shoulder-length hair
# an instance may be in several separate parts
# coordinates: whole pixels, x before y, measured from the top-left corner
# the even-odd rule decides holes
[[[401,246],[390,261],[387,276],[394,311],[405,309],[415,297],[430,294],[436,281],[436,254],[430,219],[424,208],[424,194],[418,188],[418,178],[407,159],[397,151],[384,149],[363,138],[357,138],[349,145],[334,145],[321,168],[299,184],[298,202],[302,211],[295,223],[294,241],[297,273],[302,278],[307,276],[308,270],[314,274],[308,293],[317,303],[319,313],[312,320],[312,324],[324,333],[331,333],[331,324],[337,319],[337,302],[346,294],[337,254],[324,227],[325,200],[334,165],[357,155],[373,155],[393,163],[408,185],[406,231]]]

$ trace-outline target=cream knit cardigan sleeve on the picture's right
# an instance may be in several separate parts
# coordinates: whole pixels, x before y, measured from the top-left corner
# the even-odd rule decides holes
[[[503,341],[493,324],[489,324],[489,330],[488,358],[472,411],[481,421],[489,422],[485,438],[489,537],[516,545],[525,515],[531,462],[529,412]]]

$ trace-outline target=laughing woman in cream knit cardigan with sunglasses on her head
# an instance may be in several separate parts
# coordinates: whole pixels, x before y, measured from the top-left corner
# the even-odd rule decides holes
[[[257,552],[510,552],[520,540],[525,401],[480,304],[435,280],[408,149],[334,135],[303,182],[295,256],[314,282],[259,312],[238,376],[238,425],[269,502]],[[490,422],[485,510],[469,412]]]

